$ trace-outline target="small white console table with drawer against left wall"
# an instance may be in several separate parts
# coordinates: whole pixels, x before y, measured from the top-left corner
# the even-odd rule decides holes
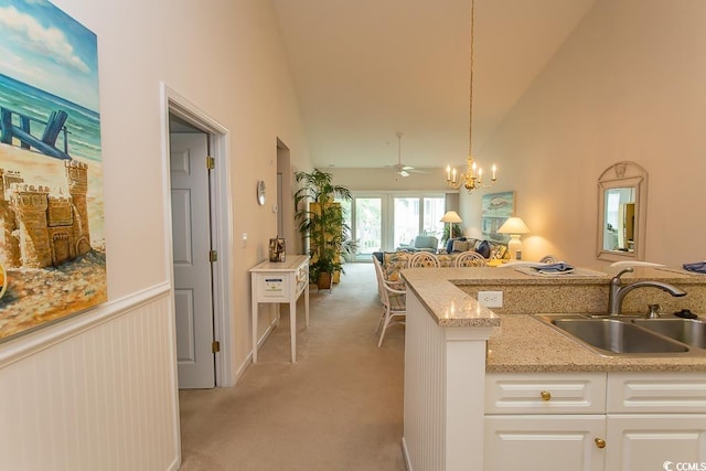
[[[304,293],[304,317],[309,327],[309,256],[288,255],[286,261],[263,261],[250,268],[253,302],[253,363],[257,362],[259,303],[289,303],[291,362],[297,363],[297,299]]]

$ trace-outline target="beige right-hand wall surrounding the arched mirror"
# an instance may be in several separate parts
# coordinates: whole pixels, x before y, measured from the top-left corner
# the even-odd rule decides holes
[[[646,259],[706,258],[705,18],[700,0],[598,0],[477,151],[517,192],[525,258],[597,264],[597,180],[621,160],[649,172]],[[480,204],[462,193],[467,226]]]

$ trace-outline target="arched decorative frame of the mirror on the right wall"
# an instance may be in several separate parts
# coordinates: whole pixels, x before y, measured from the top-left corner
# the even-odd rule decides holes
[[[603,248],[603,227],[606,227],[606,190],[633,186],[635,189],[635,215],[633,251],[607,250]],[[640,164],[622,161],[610,165],[598,179],[598,244],[597,257],[600,260],[644,260],[645,235],[648,226],[648,171]]]

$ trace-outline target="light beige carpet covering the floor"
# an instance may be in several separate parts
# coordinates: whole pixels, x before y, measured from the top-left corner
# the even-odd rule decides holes
[[[298,304],[233,388],[180,392],[182,470],[404,470],[404,327],[378,349],[372,264],[346,264],[333,292]],[[284,311],[286,312],[286,311]]]

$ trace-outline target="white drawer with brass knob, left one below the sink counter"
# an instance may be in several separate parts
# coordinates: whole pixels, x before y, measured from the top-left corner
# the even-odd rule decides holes
[[[605,373],[485,376],[485,414],[605,414]]]

